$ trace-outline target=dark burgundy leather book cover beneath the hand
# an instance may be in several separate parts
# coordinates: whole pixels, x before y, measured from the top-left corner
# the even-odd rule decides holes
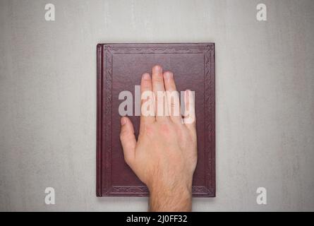
[[[193,196],[215,196],[215,44],[97,44],[97,196],[148,196],[123,159],[119,93],[133,94],[143,73],[159,64],[172,71],[178,91],[195,91],[198,164]],[[128,116],[138,136],[140,117]]]

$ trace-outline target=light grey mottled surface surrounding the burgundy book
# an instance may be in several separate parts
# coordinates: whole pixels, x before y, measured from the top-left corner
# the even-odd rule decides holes
[[[217,197],[194,210],[314,210],[313,11],[310,0],[1,0],[0,210],[147,210],[147,198],[95,196],[98,42],[216,43]]]

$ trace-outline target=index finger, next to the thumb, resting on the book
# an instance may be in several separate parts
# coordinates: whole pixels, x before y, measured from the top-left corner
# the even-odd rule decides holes
[[[152,93],[152,80],[149,73],[144,73],[140,82],[140,126],[151,124],[155,119],[155,101]]]

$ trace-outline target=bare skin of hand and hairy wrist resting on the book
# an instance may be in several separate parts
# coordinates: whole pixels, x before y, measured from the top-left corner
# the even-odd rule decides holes
[[[161,66],[152,68],[152,76],[144,73],[141,93],[175,91],[174,75],[162,72]],[[141,105],[151,99],[142,100]],[[163,115],[140,117],[140,133],[135,139],[133,124],[128,117],[121,118],[121,143],[126,163],[145,183],[150,191],[150,211],[191,211],[192,178],[197,162],[195,120],[184,124],[180,115],[174,114],[174,98],[165,102]],[[185,105],[192,107],[189,117],[195,119],[194,100],[186,90]],[[171,110],[169,110],[171,109]]]

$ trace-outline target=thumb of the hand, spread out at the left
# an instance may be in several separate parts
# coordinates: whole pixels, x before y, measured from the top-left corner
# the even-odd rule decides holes
[[[128,117],[121,118],[120,140],[123,148],[124,160],[131,165],[135,158],[136,139],[133,124]]]

